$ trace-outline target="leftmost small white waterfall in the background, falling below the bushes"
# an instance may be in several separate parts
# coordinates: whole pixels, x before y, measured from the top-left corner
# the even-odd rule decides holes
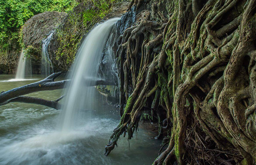
[[[15,79],[17,80],[25,79],[25,71],[26,71],[26,57],[24,56],[24,50],[21,50]]]

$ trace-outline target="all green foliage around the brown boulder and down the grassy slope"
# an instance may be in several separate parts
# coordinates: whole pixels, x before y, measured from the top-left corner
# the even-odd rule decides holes
[[[122,0],[0,0],[0,57],[16,56],[24,47],[21,29],[35,14],[46,11],[69,12],[68,24],[57,29],[56,59],[71,65],[81,38]],[[83,2],[79,7],[78,2]],[[87,10],[85,9],[87,8]],[[88,9],[89,8],[89,9]],[[35,50],[30,47],[28,52]]]

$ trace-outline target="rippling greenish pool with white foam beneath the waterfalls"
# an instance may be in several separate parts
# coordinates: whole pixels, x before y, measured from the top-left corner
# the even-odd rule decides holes
[[[0,91],[36,82],[37,80],[5,82],[14,75],[0,75]],[[40,75],[33,78],[40,78]],[[35,92],[34,97],[54,100],[62,90]],[[76,130],[60,136],[56,131],[62,110],[24,103],[0,106],[0,165],[149,165],[157,156],[160,141],[140,127],[130,140],[118,141],[109,156],[104,156],[112,131],[119,123],[116,106],[105,102],[105,97],[95,92],[95,108],[82,111],[91,114],[82,120]],[[62,101],[62,103],[64,100]]]

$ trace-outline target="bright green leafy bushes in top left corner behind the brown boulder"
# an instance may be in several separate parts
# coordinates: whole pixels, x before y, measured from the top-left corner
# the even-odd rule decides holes
[[[19,31],[35,14],[70,11],[76,0],[0,0],[0,55],[19,48]]]

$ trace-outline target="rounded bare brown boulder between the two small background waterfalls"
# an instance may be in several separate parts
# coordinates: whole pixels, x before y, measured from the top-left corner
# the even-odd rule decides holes
[[[22,38],[26,52],[32,60],[33,74],[40,73],[42,40],[63,24],[66,16],[65,12],[44,12],[31,17],[24,24]]]

